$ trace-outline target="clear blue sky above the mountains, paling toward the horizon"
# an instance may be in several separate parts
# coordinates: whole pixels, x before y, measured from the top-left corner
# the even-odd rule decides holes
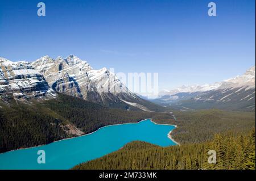
[[[158,72],[160,89],[221,81],[255,65],[255,1],[0,0],[0,56],[46,54],[75,54],[95,69]]]

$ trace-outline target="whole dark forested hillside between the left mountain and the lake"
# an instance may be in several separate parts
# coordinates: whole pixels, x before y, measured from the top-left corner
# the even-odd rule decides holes
[[[79,136],[105,125],[138,122],[158,114],[166,115],[110,109],[64,94],[40,102],[0,100],[0,153]],[[79,134],[70,129],[78,130]]]

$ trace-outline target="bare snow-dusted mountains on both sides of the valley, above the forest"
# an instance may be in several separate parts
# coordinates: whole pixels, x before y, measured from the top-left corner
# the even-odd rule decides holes
[[[171,106],[179,110],[253,111],[255,66],[243,75],[222,82],[161,91],[160,97],[150,102],[129,91],[108,69],[94,70],[74,55],[56,59],[44,56],[32,62],[12,62],[0,57],[1,100],[52,99],[57,92],[125,110],[164,111],[162,106]]]

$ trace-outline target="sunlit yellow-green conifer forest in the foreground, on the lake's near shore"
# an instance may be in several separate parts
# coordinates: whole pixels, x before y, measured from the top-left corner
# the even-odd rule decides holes
[[[208,163],[209,150],[216,151],[215,164]],[[212,141],[165,148],[134,141],[73,169],[255,169],[255,129],[249,134],[218,133]]]

